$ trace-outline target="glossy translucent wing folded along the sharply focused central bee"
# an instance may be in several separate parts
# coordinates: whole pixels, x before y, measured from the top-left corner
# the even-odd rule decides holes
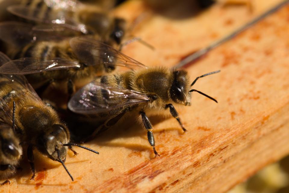
[[[76,113],[97,114],[150,100],[149,96],[134,90],[119,89],[92,81],[73,95],[68,108]]]

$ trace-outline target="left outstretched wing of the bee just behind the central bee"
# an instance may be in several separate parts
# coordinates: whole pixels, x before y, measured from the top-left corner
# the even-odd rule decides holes
[[[71,61],[64,58],[20,58],[6,62],[0,66],[0,74],[33,74],[43,71],[80,67],[81,66],[77,61]]]

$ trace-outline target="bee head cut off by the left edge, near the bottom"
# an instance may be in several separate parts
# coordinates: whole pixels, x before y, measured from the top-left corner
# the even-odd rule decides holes
[[[22,155],[22,147],[14,131],[10,127],[1,128],[0,144],[3,156],[8,160],[19,160]],[[3,160],[2,160],[3,161]]]

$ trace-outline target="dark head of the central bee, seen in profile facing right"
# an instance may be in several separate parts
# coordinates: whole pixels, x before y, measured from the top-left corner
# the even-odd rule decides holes
[[[188,93],[189,78],[188,73],[184,70],[173,71],[172,86],[169,90],[171,99],[179,104],[187,105],[191,96]]]

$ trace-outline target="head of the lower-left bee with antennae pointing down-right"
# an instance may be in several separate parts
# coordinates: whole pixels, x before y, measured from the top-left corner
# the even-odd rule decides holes
[[[51,160],[65,162],[67,155],[68,134],[64,126],[54,124],[48,129],[43,136],[39,137],[38,149]],[[58,156],[59,152],[60,156]]]

